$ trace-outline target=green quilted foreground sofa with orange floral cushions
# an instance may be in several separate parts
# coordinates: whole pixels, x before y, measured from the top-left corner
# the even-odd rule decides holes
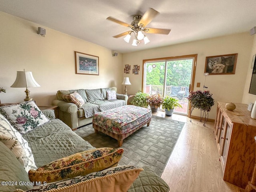
[[[38,168],[27,172],[3,139],[13,123],[7,120],[9,117],[1,107],[0,112],[1,192],[169,191],[169,186],[149,167],[117,166],[122,148],[94,148],[61,120],[55,119],[54,110],[43,110],[50,121],[22,134]],[[32,114],[36,114],[34,110]],[[107,150],[109,152],[104,154]],[[81,154],[86,161],[79,161]]]

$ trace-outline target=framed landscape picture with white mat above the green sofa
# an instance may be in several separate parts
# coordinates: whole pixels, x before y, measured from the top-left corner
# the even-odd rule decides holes
[[[76,74],[99,75],[99,57],[75,51]]]

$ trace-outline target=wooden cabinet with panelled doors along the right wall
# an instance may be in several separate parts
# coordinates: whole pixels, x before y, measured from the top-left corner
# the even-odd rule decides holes
[[[256,120],[251,118],[247,104],[235,103],[233,111],[226,109],[226,102],[218,102],[214,134],[223,179],[245,188],[252,178],[255,164]]]

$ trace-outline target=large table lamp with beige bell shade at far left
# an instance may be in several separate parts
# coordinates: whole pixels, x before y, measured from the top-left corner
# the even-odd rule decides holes
[[[24,101],[31,101],[33,99],[29,96],[30,91],[28,90],[28,87],[40,87],[40,85],[34,79],[32,72],[25,71],[24,69],[23,71],[17,71],[16,80],[11,87],[15,87],[15,88],[26,87],[26,90],[25,90],[26,98],[24,99]]]

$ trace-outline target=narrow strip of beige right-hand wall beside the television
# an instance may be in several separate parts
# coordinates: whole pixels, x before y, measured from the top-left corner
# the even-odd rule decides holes
[[[252,78],[252,57],[256,54],[256,35],[254,35],[254,40],[253,40],[253,46],[252,46],[252,52],[250,54],[250,62],[249,62],[249,67],[248,67],[248,73],[246,77],[246,83],[244,86],[244,96],[243,96],[243,103],[254,103],[256,100],[256,95],[249,94],[249,89],[250,89],[250,83],[251,83],[251,78]]]

